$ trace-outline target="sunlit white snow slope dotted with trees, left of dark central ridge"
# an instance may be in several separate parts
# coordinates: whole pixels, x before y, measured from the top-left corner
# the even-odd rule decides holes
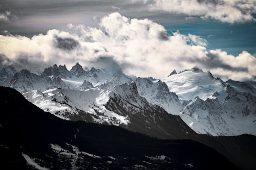
[[[83,91],[58,88],[44,92],[32,90],[23,95],[42,110],[63,119],[90,119],[90,122],[110,125],[129,123],[128,117],[120,116],[105,108],[104,104],[109,100],[109,91],[99,88]]]

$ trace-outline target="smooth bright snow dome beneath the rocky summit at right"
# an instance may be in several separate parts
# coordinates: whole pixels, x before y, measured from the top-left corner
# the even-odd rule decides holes
[[[186,101],[196,96],[205,100],[212,93],[225,89],[225,84],[221,79],[215,79],[209,71],[204,72],[197,67],[160,80],[165,82],[169,90],[175,92],[180,100]]]

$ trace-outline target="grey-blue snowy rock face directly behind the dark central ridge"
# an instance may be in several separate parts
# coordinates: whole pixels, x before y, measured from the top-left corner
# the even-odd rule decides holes
[[[170,114],[179,114],[182,104],[178,96],[169,92],[167,85],[162,81],[153,83],[147,78],[137,78],[134,80],[139,94],[148,102],[161,106]]]

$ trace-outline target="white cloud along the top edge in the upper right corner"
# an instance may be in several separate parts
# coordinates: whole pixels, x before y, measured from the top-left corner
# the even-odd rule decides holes
[[[143,2],[151,11],[163,10],[228,23],[255,21],[253,14],[256,13],[255,0],[132,0],[132,2]]]

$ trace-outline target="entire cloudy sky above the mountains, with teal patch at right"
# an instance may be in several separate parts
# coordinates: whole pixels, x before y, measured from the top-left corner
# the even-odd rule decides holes
[[[0,68],[76,62],[165,77],[198,66],[256,81],[255,0],[2,0]]]

